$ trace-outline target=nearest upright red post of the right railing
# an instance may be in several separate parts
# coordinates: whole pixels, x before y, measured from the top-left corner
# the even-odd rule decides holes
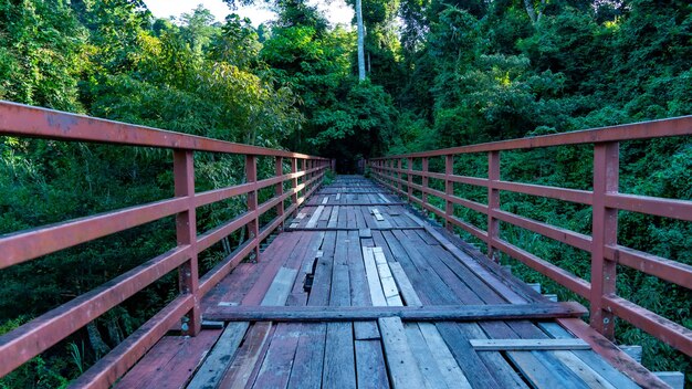
[[[618,192],[620,145],[594,146],[594,204],[591,225],[590,324],[609,339],[615,334],[615,316],[604,305],[604,296],[616,293],[616,262],[605,257],[606,246],[618,239],[618,210],[606,207],[606,195]]]

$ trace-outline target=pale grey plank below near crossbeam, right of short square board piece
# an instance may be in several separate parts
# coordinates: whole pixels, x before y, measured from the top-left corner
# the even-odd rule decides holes
[[[408,345],[403,324],[398,317],[377,320],[382,334],[387,368],[394,388],[423,388],[426,382]]]

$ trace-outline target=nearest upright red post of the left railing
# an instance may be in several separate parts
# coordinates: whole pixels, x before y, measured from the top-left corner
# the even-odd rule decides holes
[[[197,263],[197,208],[195,204],[195,158],[192,150],[174,150],[174,179],[176,197],[188,198],[188,209],[176,215],[178,245],[189,245],[189,259],[178,267],[178,287],[182,294],[191,294],[195,305],[182,318],[180,328],[185,335],[196,336],[201,330],[199,305],[199,270]]]

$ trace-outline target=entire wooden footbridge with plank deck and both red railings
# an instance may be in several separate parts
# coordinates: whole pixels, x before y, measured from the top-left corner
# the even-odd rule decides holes
[[[615,318],[688,356],[692,332],[618,296],[616,270],[690,290],[692,266],[619,245],[618,211],[690,222],[692,201],[620,193],[619,143],[690,135],[689,116],[464,146],[371,159],[370,179],[337,176],[325,185],[334,162],[322,157],[0,103],[0,136],[169,149],[175,177],[174,198],[1,235],[0,269],[166,217],[175,215],[178,241],[2,335],[0,376],[178,272],[179,294],[73,387],[665,388],[611,341]],[[502,179],[502,153],[565,145],[593,147],[588,190]],[[244,156],[244,182],[196,191],[196,153]],[[455,166],[466,154],[487,156],[485,177]],[[259,158],[275,161],[271,177],[258,176]],[[443,160],[443,172],[429,169],[433,158]],[[458,197],[458,183],[486,190],[487,201]],[[265,188],[269,199],[259,196]],[[502,191],[590,207],[591,234],[502,210]],[[198,231],[199,207],[234,197],[247,211]],[[486,228],[462,220],[462,208],[485,214]],[[590,278],[503,240],[500,222],[590,253]],[[245,241],[198,274],[198,254],[242,229]],[[484,253],[460,231],[484,242]],[[588,309],[553,302],[515,278],[495,263],[499,253],[583,297]]]

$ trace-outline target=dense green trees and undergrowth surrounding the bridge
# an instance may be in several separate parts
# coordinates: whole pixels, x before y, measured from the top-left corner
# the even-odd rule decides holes
[[[234,7],[235,1],[227,0]],[[251,2],[241,0],[240,2]],[[0,0],[0,98],[339,159],[552,134],[692,114],[692,6],[685,0],[364,0],[368,80],[356,36],[302,0],[277,0],[255,29],[197,8],[154,18],[140,0]],[[231,13],[232,11],[229,11]],[[590,151],[562,147],[503,156],[514,180],[590,187]],[[241,182],[242,164],[200,155],[198,189]],[[260,160],[261,172],[273,169]],[[484,156],[455,169],[483,177]],[[172,195],[170,155],[0,138],[0,234]],[[627,143],[621,190],[692,199],[689,139]],[[431,161],[441,171],[440,160]],[[433,180],[432,185],[439,185]],[[80,190],[75,190],[80,188]],[[484,202],[483,191],[459,186]],[[590,209],[505,196],[503,209],[589,233]],[[200,209],[200,230],[242,211],[242,199]],[[458,210],[483,227],[483,218]],[[588,256],[524,230],[505,239],[588,280]],[[164,220],[0,271],[0,334],[175,244]],[[690,223],[620,215],[619,241],[692,263]],[[205,269],[242,241],[202,256]],[[510,262],[560,298],[575,298]],[[692,328],[689,290],[619,269],[618,293]],[[174,275],[0,380],[64,386],[176,293]],[[690,358],[628,325],[644,365],[684,370]]]

